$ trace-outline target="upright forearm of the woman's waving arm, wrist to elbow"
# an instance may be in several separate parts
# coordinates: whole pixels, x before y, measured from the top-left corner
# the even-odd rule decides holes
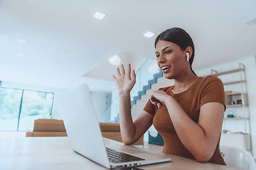
[[[134,138],[134,124],[131,114],[131,97],[129,92],[119,95],[119,121],[122,141],[131,144]]]

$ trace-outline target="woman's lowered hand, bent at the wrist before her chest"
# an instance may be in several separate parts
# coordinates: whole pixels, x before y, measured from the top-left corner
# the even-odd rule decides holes
[[[158,108],[161,108],[165,105],[166,100],[171,97],[168,94],[166,94],[165,91],[157,90],[154,91],[153,94],[151,94],[149,101],[156,105]]]

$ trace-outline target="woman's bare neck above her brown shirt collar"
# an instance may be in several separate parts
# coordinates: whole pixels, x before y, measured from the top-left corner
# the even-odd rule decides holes
[[[174,91],[181,92],[188,89],[189,86],[191,86],[198,77],[191,72],[191,70],[188,70],[187,72],[181,72],[180,75],[178,75],[178,78],[174,79]]]

